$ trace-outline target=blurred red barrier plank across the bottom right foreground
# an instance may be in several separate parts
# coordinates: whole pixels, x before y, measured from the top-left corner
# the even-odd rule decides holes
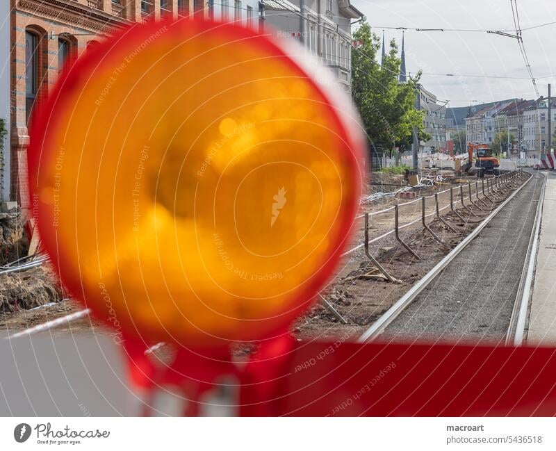
[[[295,343],[250,363],[244,416],[553,416],[556,349]]]

